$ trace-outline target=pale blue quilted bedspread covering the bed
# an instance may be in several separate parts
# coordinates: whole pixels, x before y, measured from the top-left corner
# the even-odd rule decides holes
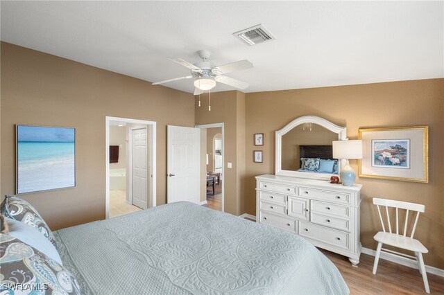
[[[82,294],[348,294],[298,235],[189,202],[55,232]]]

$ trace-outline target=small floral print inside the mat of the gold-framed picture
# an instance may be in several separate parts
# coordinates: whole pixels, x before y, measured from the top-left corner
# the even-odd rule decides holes
[[[373,140],[373,167],[410,168],[410,140]]]

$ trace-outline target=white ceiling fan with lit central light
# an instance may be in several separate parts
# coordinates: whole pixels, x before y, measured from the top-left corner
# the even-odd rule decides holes
[[[212,89],[214,86],[216,86],[216,82],[227,84],[238,89],[246,89],[248,87],[248,83],[227,77],[222,74],[253,68],[253,64],[251,62],[248,60],[239,60],[238,62],[231,62],[230,64],[223,64],[222,66],[212,66],[211,62],[207,62],[208,57],[211,55],[210,51],[200,50],[197,53],[202,59],[202,62],[196,62],[196,64],[191,64],[190,62],[182,60],[178,57],[167,57],[169,60],[177,62],[178,64],[190,69],[191,75],[154,82],[153,85],[194,78],[194,87],[196,87],[194,90],[195,96],[203,93],[205,90]]]

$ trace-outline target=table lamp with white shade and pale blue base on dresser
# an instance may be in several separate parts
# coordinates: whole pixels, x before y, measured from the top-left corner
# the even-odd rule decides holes
[[[333,141],[333,157],[345,160],[345,166],[341,170],[341,181],[344,186],[352,186],[356,175],[348,160],[362,159],[362,141]]]

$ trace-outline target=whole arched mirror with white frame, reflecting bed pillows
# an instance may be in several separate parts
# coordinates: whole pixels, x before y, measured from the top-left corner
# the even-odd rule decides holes
[[[347,139],[347,128],[316,116],[303,116],[276,131],[275,175],[328,180],[343,160],[333,159],[332,141]]]

